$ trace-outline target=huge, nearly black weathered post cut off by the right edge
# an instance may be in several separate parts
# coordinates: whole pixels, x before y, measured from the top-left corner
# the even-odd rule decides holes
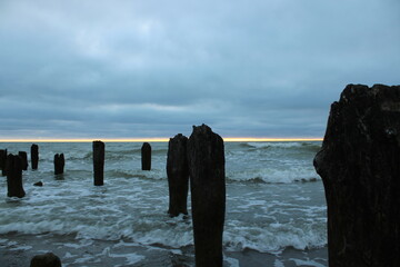
[[[329,266],[400,266],[400,86],[349,85],[314,158]]]

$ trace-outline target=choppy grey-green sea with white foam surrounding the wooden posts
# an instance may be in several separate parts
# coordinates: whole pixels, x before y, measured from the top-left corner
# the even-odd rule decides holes
[[[91,142],[38,145],[38,170],[23,171],[26,197],[7,197],[0,177],[0,266],[29,266],[48,251],[63,267],[194,266],[190,192],[189,216],[167,214],[168,142],[150,142],[150,171],[141,170],[141,142],[106,142],[103,186],[93,186]],[[0,142],[29,158],[30,146]],[[312,166],[320,147],[224,142],[223,266],[328,266],[324,190]],[[64,174],[54,176],[61,152]]]

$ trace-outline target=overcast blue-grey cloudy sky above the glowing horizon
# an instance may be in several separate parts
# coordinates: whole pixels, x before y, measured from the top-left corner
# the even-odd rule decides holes
[[[0,0],[0,139],[324,135],[400,85],[399,0]]]

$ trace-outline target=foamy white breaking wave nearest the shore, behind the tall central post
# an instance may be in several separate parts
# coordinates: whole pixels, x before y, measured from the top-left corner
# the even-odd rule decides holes
[[[73,220],[12,221],[0,226],[0,234],[26,235],[72,235],[76,239],[129,240],[140,245],[157,245],[182,248],[193,245],[192,224],[182,216],[157,218],[158,221],[142,218],[134,220],[126,216],[117,224],[100,219],[93,224]],[[160,221],[161,220],[161,221]],[[133,224],[132,224],[133,222]],[[280,254],[288,247],[304,250],[327,245],[326,229],[316,225],[301,228],[292,225],[270,224],[266,227],[241,226],[227,221],[223,233],[223,247],[228,251],[253,249],[260,253]],[[117,227],[116,227],[117,226]]]

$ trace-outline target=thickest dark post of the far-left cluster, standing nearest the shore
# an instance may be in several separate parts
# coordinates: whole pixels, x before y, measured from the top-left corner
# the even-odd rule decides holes
[[[22,198],[26,195],[22,186],[22,160],[12,154],[7,157],[7,189],[8,197]]]

